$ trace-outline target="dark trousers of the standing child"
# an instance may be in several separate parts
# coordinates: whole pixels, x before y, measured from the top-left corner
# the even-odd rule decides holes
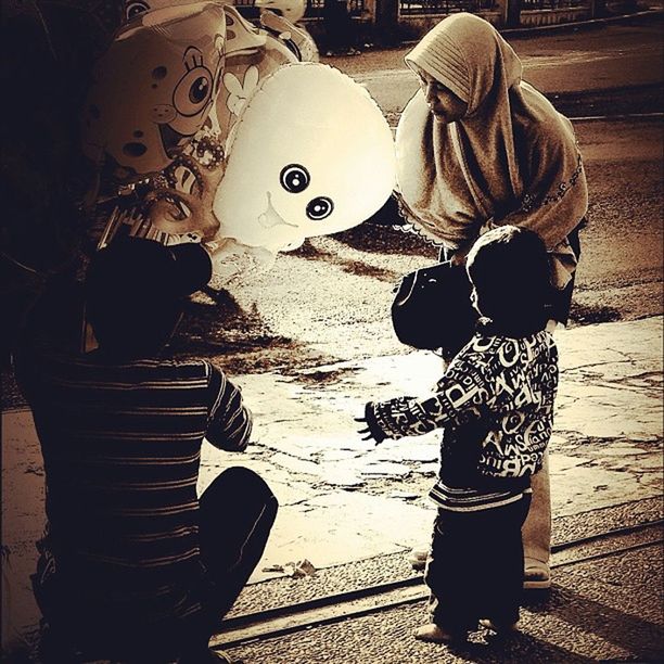
[[[476,512],[438,510],[424,580],[432,622],[445,631],[519,621],[523,589],[521,526],[531,505],[515,502]]]

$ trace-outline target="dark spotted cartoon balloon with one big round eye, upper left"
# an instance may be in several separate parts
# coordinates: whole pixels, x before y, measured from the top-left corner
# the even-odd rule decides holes
[[[82,148],[130,181],[168,166],[207,119],[220,89],[226,16],[216,2],[153,10],[100,59],[85,105]]]

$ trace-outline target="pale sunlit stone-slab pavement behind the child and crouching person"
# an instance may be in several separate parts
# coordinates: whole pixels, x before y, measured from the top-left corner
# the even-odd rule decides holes
[[[662,318],[574,328],[557,340],[554,518],[660,498]],[[368,398],[425,392],[437,373],[435,357],[411,353],[288,376],[234,376],[255,416],[254,444],[244,455],[205,445],[199,488],[222,469],[242,464],[277,495],[280,512],[251,583],[283,577],[290,562],[306,559],[317,570],[357,564],[400,556],[427,539],[433,507],[424,495],[437,468],[438,434],[375,447],[359,438],[353,418]],[[42,528],[43,467],[27,410],[3,412],[2,431],[2,542],[11,565],[3,560],[7,643],[29,633],[36,617],[28,575]],[[264,571],[274,566],[285,566],[285,573]],[[293,601],[292,589],[280,602],[270,584],[260,588],[276,603]]]

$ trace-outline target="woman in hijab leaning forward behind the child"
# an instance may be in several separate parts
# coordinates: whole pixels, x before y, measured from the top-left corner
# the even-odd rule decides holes
[[[522,80],[512,48],[473,14],[445,18],[405,60],[421,82],[396,133],[397,197],[406,220],[458,266],[490,228],[511,224],[536,231],[551,266],[548,329],[566,323],[588,207],[570,120]],[[467,438],[477,435],[465,432]],[[549,588],[547,462],[533,491],[523,528],[524,586]]]

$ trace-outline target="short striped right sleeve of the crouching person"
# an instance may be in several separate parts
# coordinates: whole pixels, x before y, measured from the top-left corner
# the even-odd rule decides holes
[[[243,451],[252,434],[252,413],[242,401],[240,390],[220,369],[207,365],[213,404],[205,437],[219,449]]]

